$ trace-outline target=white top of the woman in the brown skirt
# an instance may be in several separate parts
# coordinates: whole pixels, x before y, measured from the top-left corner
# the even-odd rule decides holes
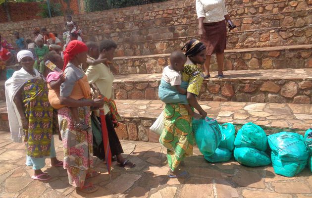
[[[227,15],[224,0],[196,0],[197,18],[205,17],[204,23],[214,23],[224,20]]]

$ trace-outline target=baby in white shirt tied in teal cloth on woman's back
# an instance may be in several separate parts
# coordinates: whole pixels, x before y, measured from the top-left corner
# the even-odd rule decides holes
[[[187,90],[181,87],[182,70],[186,63],[186,55],[181,51],[173,51],[170,54],[170,65],[166,66],[162,71],[161,82],[159,85],[159,99],[164,103],[180,103],[184,104],[190,116],[200,119],[201,115],[195,113],[189,105],[186,94]],[[187,85],[185,86],[187,87]]]

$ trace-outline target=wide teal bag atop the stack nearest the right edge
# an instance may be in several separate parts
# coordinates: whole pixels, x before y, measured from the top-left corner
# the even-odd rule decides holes
[[[267,139],[272,152],[282,161],[307,161],[309,158],[304,137],[298,133],[280,132],[269,135]]]

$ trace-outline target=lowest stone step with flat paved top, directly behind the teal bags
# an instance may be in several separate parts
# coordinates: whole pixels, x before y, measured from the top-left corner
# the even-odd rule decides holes
[[[248,122],[264,129],[266,134],[292,131],[303,134],[312,127],[311,104],[276,104],[254,102],[200,101],[208,116],[219,124],[234,123],[237,130]],[[118,137],[124,140],[157,142],[159,136],[150,131],[150,126],[164,108],[160,100],[116,100],[122,117],[116,128]]]

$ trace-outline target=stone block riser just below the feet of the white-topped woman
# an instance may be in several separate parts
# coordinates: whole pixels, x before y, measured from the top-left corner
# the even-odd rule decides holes
[[[116,99],[158,99],[160,80],[114,83]],[[200,100],[311,103],[311,80],[210,79],[203,83]]]

